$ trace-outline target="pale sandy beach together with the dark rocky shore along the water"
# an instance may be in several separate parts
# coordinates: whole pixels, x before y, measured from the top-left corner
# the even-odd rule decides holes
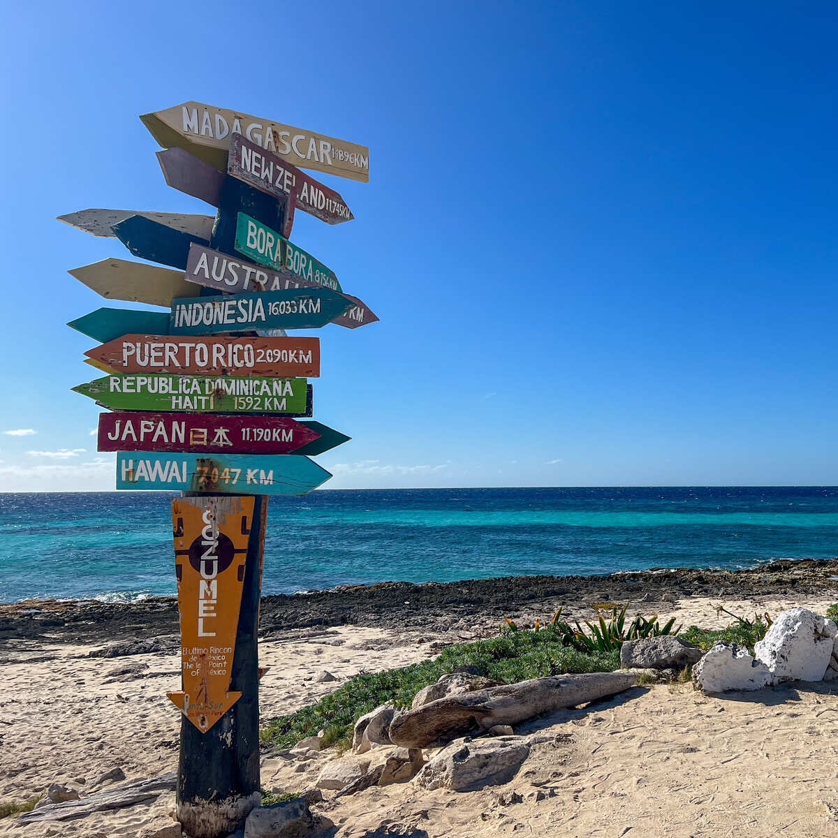
[[[528,584],[488,580],[409,591],[393,583],[285,597],[293,601],[285,609],[272,602],[281,597],[268,597],[260,643],[260,663],[268,667],[260,685],[261,718],[311,704],[361,671],[407,665],[448,644],[496,634],[500,604],[491,602],[490,593],[504,586],[506,613],[516,619],[535,613],[543,618],[559,605],[571,616],[590,617],[591,597],[617,594],[613,600],[628,602],[629,613],[659,613],[712,629],[730,622],[717,612],[720,604],[747,616],[794,606],[823,613],[838,601],[829,578],[835,562],[810,564],[777,562],[742,574],[634,574],[637,583],[627,575],[535,577],[539,581]],[[566,593],[552,592],[561,586]],[[635,586],[634,597],[619,596]],[[717,593],[685,592],[691,586],[716,587]],[[437,613],[422,612],[422,600],[431,593],[422,588],[437,593]],[[441,589],[453,602],[438,597]],[[376,597],[392,600],[394,594],[403,597],[402,608],[420,603],[411,619],[402,619],[398,609],[375,607]],[[324,625],[329,597],[341,599],[346,610],[333,609],[336,624]],[[100,613],[99,622],[92,621],[97,609],[110,613],[110,620]],[[56,783],[84,797],[177,768],[179,718],[165,696],[179,686],[171,610],[165,600],[0,607],[0,800],[28,799]],[[306,613],[308,625],[283,624],[282,615],[286,622],[302,622]],[[160,649],[98,656],[123,641]],[[323,672],[337,680],[319,682]],[[558,835],[615,838],[838,835],[838,743],[831,733],[836,720],[838,688],[823,683],[719,697],[697,693],[690,684],[635,687],[587,710],[559,711],[517,728],[519,735],[551,736],[532,749],[508,784],[468,793],[394,784],[339,799],[327,791],[313,809],[334,822],[329,834],[346,838],[535,835],[546,828],[558,828]],[[331,757],[334,750],[304,756],[268,750],[262,785],[277,792],[311,788]],[[116,779],[103,779],[108,773]],[[18,825],[8,818],[0,820],[0,834],[140,835],[173,824],[173,801],[167,792],[150,804],[49,825]]]

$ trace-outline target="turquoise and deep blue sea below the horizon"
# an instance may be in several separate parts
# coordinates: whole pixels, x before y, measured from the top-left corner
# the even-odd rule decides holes
[[[0,602],[174,595],[170,494],[0,494]],[[272,498],[265,593],[838,555],[838,488],[381,489]]]

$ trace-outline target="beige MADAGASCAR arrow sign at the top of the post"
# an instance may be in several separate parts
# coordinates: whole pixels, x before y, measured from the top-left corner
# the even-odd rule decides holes
[[[222,170],[226,170],[231,138],[241,134],[300,168],[364,182],[370,179],[370,149],[366,146],[260,116],[184,102],[165,111],[143,114],[140,119],[164,148],[184,148]]]

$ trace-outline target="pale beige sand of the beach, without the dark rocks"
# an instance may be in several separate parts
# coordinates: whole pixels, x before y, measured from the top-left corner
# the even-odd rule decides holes
[[[823,613],[830,602],[800,597],[724,604],[752,617],[755,611],[776,615],[795,605]],[[716,614],[716,604],[696,597],[667,608],[679,623],[716,628],[730,622]],[[361,670],[423,660],[433,654],[430,641],[438,639],[341,627],[262,641],[260,662],[271,669],[261,682],[261,715],[312,703]],[[179,687],[177,654],[85,657],[92,648],[21,641],[4,663],[0,799],[27,798],[56,782],[84,795],[116,766],[128,780],[177,767],[179,720],[165,696]],[[147,665],[143,677],[113,675],[133,665]],[[303,680],[323,670],[339,680]],[[614,838],[838,836],[836,726],[838,685],[792,685],[722,698],[701,696],[690,685],[637,688],[590,711],[563,711],[530,723],[527,729],[572,736],[558,747],[535,748],[506,786],[458,794],[400,784],[327,801],[318,809],[345,838],[371,835],[386,823],[390,834],[413,838],[528,835],[546,828],[553,828],[553,835]],[[302,771],[297,760],[266,758],[262,785],[307,788],[330,756],[319,755]],[[536,801],[535,789],[545,792],[545,799]],[[513,790],[524,802],[500,804],[499,795]],[[165,824],[172,808],[173,794],[167,794],[152,806],[67,824],[23,827],[2,820],[0,833],[136,835],[144,825]]]

